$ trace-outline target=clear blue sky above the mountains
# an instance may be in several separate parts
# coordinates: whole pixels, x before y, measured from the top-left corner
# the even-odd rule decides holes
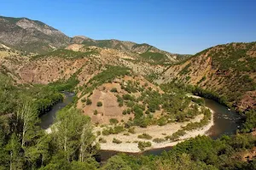
[[[256,41],[256,0],[0,0],[0,15],[40,20],[69,37],[149,43],[195,54]]]

